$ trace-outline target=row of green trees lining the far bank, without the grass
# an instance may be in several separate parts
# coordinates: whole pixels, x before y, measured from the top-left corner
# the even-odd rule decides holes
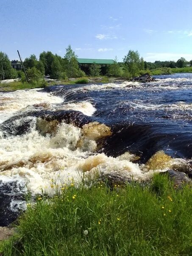
[[[71,45],[66,48],[64,57],[53,54],[50,51],[43,51],[39,55],[39,59],[32,54],[25,58],[23,64],[26,69],[30,81],[37,81],[45,75],[50,75],[53,79],[67,79],[85,77],[86,74],[81,70],[78,63],[77,55],[72,50]],[[129,50],[123,58],[123,62],[118,62],[117,56],[114,58],[114,63],[106,65],[105,72],[102,75],[125,77],[141,75],[149,70],[162,69],[169,73],[169,68],[186,67],[186,64],[191,64],[192,60],[187,62],[185,58],[180,58],[178,61],[155,61],[147,62],[140,57],[138,51]],[[89,65],[90,76],[101,75],[101,66],[99,64]],[[20,77],[22,81],[26,81],[22,71],[16,71],[11,67],[11,62],[6,53],[0,52],[0,80]]]

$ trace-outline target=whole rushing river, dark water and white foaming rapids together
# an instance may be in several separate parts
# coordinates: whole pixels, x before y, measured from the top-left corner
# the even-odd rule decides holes
[[[192,74],[156,79],[0,92],[0,225],[26,208],[27,190],[190,164]]]

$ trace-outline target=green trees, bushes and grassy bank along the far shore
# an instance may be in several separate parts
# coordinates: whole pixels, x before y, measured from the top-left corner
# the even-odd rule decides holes
[[[68,78],[79,78],[75,83],[87,83],[88,77],[100,77],[102,75],[107,77],[121,77],[130,79],[132,76],[143,75],[149,73],[150,75],[164,75],[172,72],[192,72],[192,67],[186,67],[186,64],[192,64],[192,61],[187,62],[184,58],[174,61],[155,61],[147,62],[139,56],[138,51],[129,50],[128,54],[123,58],[123,62],[118,62],[117,57],[114,58],[114,64],[106,65],[105,71],[101,70],[99,64],[91,64],[89,67],[89,74],[85,74],[80,69],[77,55],[69,45],[66,48],[64,58],[53,54],[50,51],[42,52],[39,55],[39,60],[34,54],[25,58],[24,66],[29,78],[29,83],[26,81],[24,72],[16,71],[11,67],[11,62],[6,53],[0,52],[0,80],[21,78],[21,81],[5,83],[0,85],[3,90],[14,89],[29,89],[29,88],[43,88],[47,86],[44,79],[45,75],[50,75],[51,79],[57,79],[61,83],[72,83]],[[104,79],[101,82],[107,82]],[[51,84],[51,83],[50,83]],[[54,84],[54,82],[52,83]]]

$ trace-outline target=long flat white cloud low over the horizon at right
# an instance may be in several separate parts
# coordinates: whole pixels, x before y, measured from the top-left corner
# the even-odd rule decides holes
[[[192,53],[146,53],[144,59],[145,61],[177,61],[181,57],[184,57],[187,61],[190,61],[192,59]]]

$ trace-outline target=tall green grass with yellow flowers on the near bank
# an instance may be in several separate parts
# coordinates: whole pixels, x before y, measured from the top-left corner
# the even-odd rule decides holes
[[[20,217],[4,256],[162,256],[192,254],[192,190],[173,189],[167,176],[111,191],[64,186],[36,198]]]

